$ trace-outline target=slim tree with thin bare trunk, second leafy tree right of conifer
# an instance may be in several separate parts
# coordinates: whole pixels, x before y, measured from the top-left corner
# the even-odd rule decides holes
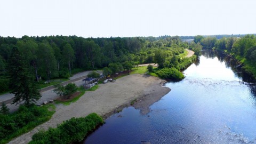
[[[75,54],[70,44],[63,47],[62,55],[64,62],[68,64],[69,74],[71,75],[71,63],[74,62]]]

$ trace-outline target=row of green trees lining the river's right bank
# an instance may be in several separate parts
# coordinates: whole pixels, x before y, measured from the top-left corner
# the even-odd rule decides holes
[[[243,64],[243,69],[256,78],[256,37],[255,35],[227,35],[217,39],[216,36],[195,36],[190,49],[202,47],[206,50],[219,50],[231,55]]]

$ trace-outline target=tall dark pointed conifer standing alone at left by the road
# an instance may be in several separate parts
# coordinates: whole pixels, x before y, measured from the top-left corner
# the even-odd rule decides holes
[[[17,46],[13,47],[9,59],[9,76],[9,87],[11,93],[15,95],[12,104],[16,103],[17,105],[25,101],[25,105],[30,105],[41,98],[38,85],[33,76],[29,74],[26,60]]]

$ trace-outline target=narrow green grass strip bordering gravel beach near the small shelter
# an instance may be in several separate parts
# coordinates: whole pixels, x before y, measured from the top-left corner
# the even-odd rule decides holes
[[[55,102],[56,104],[62,103],[63,105],[68,106],[68,105],[70,105],[71,102],[76,102],[80,97],[82,97],[82,95],[85,94],[86,91],[95,91],[95,90],[97,90],[98,88],[99,88],[99,85],[94,85],[94,86],[92,86],[90,89],[85,90],[84,87],[81,86],[81,87],[78,88],[78,91],[80,91],[81,93],[80,93],[77,97],[75,97],[74,99],[71,99],[71,100],[69,100],[69,101],[64,101],[64,102],[63,102],[63,101],[55,100],[54,102]]]

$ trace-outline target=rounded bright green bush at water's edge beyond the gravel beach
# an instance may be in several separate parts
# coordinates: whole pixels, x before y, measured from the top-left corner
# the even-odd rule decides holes
[[[185,77],[178,69],[175,68],[163,68],[157,70],[156,74],[161,78],[172,79],[175,81],[180,81]]]

